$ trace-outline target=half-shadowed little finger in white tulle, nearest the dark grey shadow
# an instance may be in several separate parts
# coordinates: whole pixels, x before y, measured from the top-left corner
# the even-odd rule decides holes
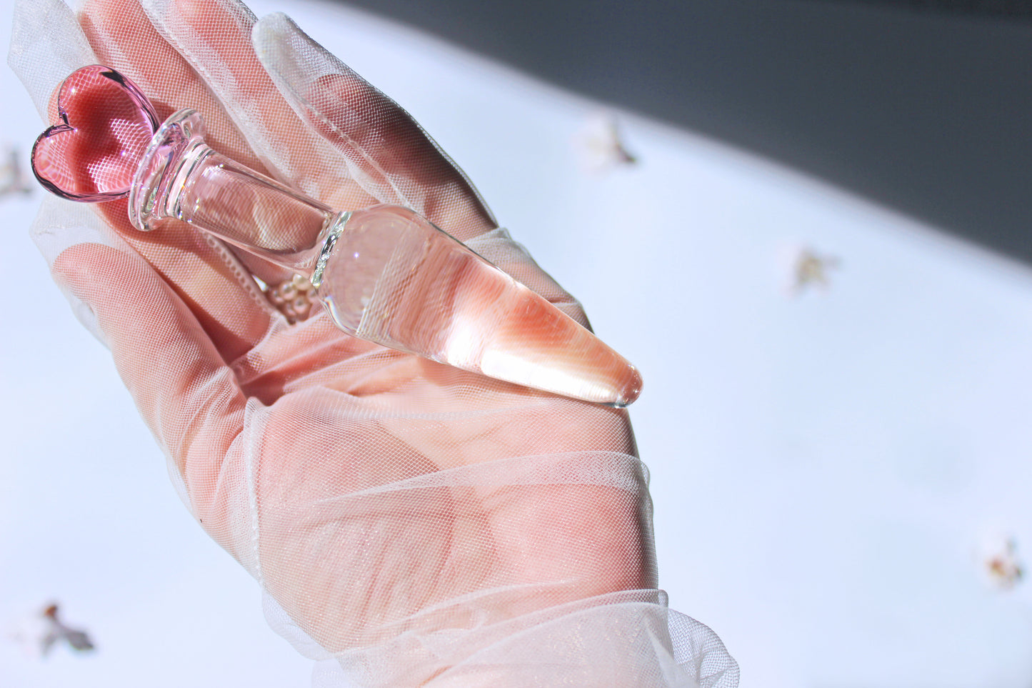
[[[459,240],[494,228],[476,189],[415,120],[287,15],[259,21],[254,42],[287,101],[372,195],[415,210]]]

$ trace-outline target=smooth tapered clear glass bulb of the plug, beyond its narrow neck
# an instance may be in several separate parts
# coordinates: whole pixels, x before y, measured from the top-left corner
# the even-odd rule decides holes
[[[626,406],[641,394],[625,358],[426,218],[376,206],[332,237],[318,291],[345,332],[575,399]]]

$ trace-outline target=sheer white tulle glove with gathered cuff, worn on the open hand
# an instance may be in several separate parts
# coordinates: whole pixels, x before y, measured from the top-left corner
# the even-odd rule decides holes
[[[9,62],[45,119],[64,76],[110,64],[169,107],[221,108],[213,145],[244,162],[336,208],[413,208],[587,322],[422,129],[289,19],[142,6],[150,33],[19,5]],[[227,64],[251,36],[258,59]],[[205,91],[140,66],[160,41]],[[289,110],[270,119],[278,98]],[[185,227],[135,243],[107,217],[46,198],[32,232],[184,502],[317,660],[314,685],[737,686],[717,636],[656,589],[625,413],[355,342],[322,313],[290,325],[252,278],[282,277],[269,265]]]

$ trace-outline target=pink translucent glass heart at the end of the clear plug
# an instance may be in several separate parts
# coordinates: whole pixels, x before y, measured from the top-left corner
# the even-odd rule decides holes
[[[159,124],[142,91],[109,67],[83,67],[61,84],[58,116],[32,147],[39,183],[72,200],[128,194]]]

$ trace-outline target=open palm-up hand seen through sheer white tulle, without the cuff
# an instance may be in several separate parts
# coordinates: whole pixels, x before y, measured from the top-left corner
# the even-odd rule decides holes
[[[282,18],[259,36],[294,45],[307,70],[292,84],[319,94],[320,131],[259,63],[245,9],[155,4],[168,5],[153,11],[175,48],[132,0],[89,2],[80,21],[97,60],[161,117],[195,107],[214,148],[334,208],[408,205],[465,242],[495,228],[415,122]],[[103,215],[125,245],[75,244],[55,260],[56,279],[96,314],[203,528],[345,663],[389,648],[391,678],[370,669],[362,681],[443,682],[559,605],[654,589],[624,412],[354,340],[321,313],[290,325],[248,274],[276,284],[288,277],[279,269],[244,270],[185,225],[140,233],[124,202]],[[499,242],[489,257],[586,324]],[[433,644],[447,649],[427,652]]]

